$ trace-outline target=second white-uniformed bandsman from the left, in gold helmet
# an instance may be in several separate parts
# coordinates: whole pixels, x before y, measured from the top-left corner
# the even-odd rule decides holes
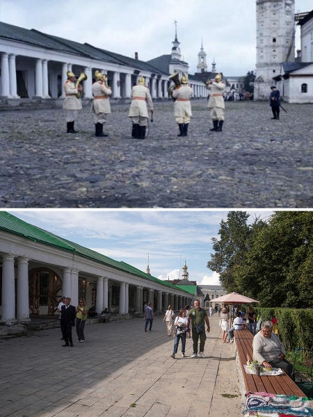
[[[101,72],[95,72],[95,83],[93,83],[93,105],[91,111],[94,113],[95,136],[106,137],[103,133],[103,125],[106,123],[107,116],[111,113],[109,95],[112,90],[106,83],[106,75]]]

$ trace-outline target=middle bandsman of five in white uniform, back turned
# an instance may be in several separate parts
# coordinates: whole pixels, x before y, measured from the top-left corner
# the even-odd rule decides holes
[[[129,108],[128,116],[133,122],[133,136],[136,139],[145,138],[145,130],[148,121],[147,106],[153,115],[153,104],[149,89],[145,86],[145,79],[141,76],[138,79],[138,84],[134,85],[131,90],[131,106]]]

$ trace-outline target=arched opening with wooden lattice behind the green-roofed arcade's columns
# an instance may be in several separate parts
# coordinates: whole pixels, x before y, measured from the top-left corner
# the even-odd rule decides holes
[[[54,316],[62,295],[62,281],[49,268],[29,271],[29,309],[31,314]]]

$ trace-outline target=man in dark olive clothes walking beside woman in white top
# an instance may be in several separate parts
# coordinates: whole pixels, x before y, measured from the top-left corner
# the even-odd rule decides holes
[[[205,358],[204,356],[204,344],[205,339],[205,323],[207,323],[207,333],[210,331],[210,323],[209,318],[207,316],[207,311],[200,308],[200,301],[195,300],[195,308],[191,309],[188,313],[188,325],[192,327],[192,335],[193,335],[193,354],[191,355],[192,358],[198,357],[198,341],[200,338],[200,350],[199,354],[200,357]]]

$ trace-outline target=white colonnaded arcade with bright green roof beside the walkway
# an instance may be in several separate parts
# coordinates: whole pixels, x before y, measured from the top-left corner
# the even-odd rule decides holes
[[[105,215],[105,214],[104,214]],[[125,262],[115,261],[0,211],[1,321],[27,323],[30,316],[54,316],[61,295],[77,305],[84,297],[97,313],[175,310],[195,297]]]

